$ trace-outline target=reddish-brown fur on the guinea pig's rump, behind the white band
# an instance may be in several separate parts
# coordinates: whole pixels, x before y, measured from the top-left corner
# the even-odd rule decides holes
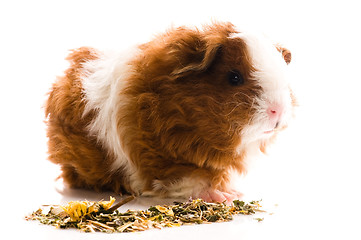
[[[70,68],[53,84],[46,103],[49,160],[61,165],[61,176],[71,187],[120,193],[126,186],[121,174],[109,174],[106,165],[112,159],[87,134],[86,126],[94,113],[82,116],[85,102],[81,68],[85,61],[96,58],[94,49],[74,50],[67,58]]]

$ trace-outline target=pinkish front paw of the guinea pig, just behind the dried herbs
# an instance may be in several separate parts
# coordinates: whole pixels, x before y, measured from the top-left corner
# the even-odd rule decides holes
[[[243,194],[235,191],[220,191],[217,189],[206,189],[201,191],[196,197],[201,198],[206,202],[232,202],[235,199],[242,198]]]

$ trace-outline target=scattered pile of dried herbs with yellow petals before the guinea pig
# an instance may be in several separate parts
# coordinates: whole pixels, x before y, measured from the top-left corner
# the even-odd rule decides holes
[[[69,202],[66,206],[49,206],[45,211],[40,208],[26,217],[27,220],[37,220],[42,224],[58,228],[76,228],[84,232],[136,232],[151,228],[178,227],[184,224],[202,224],[225,222],[233,219],[233,215],[254,214],[260,210],[259,201],[235,200],[228,206],[225,203],[207,203],[201,199],[188,202],[174,202],[174,205],[157,205],[148,210],[128,210],[121,213],[117,210],[121,205],[134,197],[113,205],[110,201]],[[112,206],[113,205],[113,206]],[[260,219],[257,218],[258,221]],[[263,220],[263,219],[262,219]]]

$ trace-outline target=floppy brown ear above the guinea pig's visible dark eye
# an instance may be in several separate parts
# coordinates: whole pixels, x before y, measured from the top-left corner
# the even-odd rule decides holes
[[[203,43],[202,45],[203,46],[198,47],[198,51],[185,50],[185,52],[188,52],[188,56],[186,57],[187,60],[182,62],[182,60],[179,59],[181,64],[172,72],[172,75],[181,75],[193,71],[207,70],[221,51],[222,44]]]

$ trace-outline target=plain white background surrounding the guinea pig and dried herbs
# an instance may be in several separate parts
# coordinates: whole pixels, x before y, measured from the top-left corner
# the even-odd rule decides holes
[[[357,1],[1,1],[0,234],[14,238],[361,239],[361,33]],[[126,48],[171,25],[231,21],[265,32],[292,51],[289,66],[300,107],[293,124],[241,183],[263,199],[261,223],[135,234],[82,234],[26,222],[41,204],[100,200],[110,193],[62,190],[46,160],[41,108],[68,50]],[[138,199],[124,206],[162,203]],[[270,215],[269,213],[274,213]]]

